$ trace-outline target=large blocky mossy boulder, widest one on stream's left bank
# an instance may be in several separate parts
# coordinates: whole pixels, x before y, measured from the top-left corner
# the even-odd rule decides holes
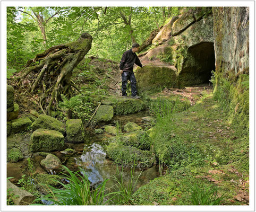
[[[64,136],[55,130],[37,129],[30,138],[31,152],[52,152],[64,146]]]

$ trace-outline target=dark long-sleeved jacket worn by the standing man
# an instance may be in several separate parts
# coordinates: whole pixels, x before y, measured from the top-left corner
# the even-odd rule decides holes
[[[140,59],[138,58],[136,53],[133,53],[132,49],[129,49],[124,52],[123,57],[120,61],[120,70],[123,70],[124,72],[132,72],[134,63],[142,67]]]

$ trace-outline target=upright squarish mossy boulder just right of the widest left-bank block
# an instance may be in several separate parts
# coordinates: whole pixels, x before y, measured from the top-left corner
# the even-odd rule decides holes
[[[69,119],[66,121],[66,138],[70,143],[84,142],[84,129],[81,119]]]

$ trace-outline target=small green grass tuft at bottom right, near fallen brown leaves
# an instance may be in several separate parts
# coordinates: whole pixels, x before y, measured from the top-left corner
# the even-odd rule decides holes
[[[221,195],[218,197],[218,189],[213,185],[200,188],[197,184],[190,185],[192,205],[221,205],[229,197]]]

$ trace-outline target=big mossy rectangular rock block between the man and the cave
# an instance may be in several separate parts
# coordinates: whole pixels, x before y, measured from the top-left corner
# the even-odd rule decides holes
[[[159,90],[164,87],[177,87],[178,79],[174,66],[151,66],[146,65],[136,69],[138,92],[147,90]]]

